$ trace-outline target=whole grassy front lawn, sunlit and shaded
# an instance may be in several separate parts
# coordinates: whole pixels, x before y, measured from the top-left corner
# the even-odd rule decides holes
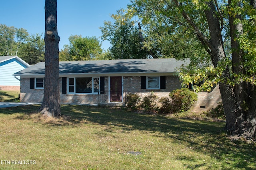
[[[56,119],[38,107],[0,109],[0,169],[256,169],[256,144],[230,138],[224,122],[75,105]]]

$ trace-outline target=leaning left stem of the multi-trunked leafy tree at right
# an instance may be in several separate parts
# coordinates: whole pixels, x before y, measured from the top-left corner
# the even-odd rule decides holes
[[[221,60],[226,59],[226,54],[224,52],[224,44],[222,41],[220,18],[217,15],[214,15],[216,12],[214,2],[210,1],[207,5],[209,8],[204,12],[210,30],[210,55],[214,67],[217,67]],[[231,77],[228,65],[225,67],[226,69],[223,70],[222,76],[224,77],[224,80],[230,80]],[[242,115],[242,111],[241,109],[238,109],[238,105],[236,105],[237,102],[233,87],[227,84],[228,83],[225,82],[220,83],[220,94],[224,112],[226,113],[226,128],[230,133],[234,133],[237,130],[237,123],[241,123],[237,122],[237,117]]]

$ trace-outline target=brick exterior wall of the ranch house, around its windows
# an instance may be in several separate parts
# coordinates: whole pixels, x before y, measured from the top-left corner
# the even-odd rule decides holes
[[[154,92],[159,98],[167,97],[172,90],[182,88],[178,76],[166,76],[166,88],[159,90],[141,89],[140,76],[124,76],[123,91],[124,102],[127,92],[139,94],[140,98]],[[21,78],[20,81],[21,102],[42,102],[44,97],[43,89],[30,89],[30,78]],[[105,94],[62,94],[62,78],[60,78],[60,102],[66,104],[90,104],[98,105],[108,102],[108,77],[104,79]],[[67,88],[67,86],[66,86]],[[67,92],[67,89],[66,89]],[[199,92],[198,101],[192,107],[193,112],[207,111],[214,108],[221,102],[219,86],[212,92]],[[205,107],[205,108],[204,108]]]

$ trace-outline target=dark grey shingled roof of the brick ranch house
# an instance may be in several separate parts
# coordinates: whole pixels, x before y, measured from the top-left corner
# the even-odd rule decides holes
[[[93,61],[60,61],[61,74],[174,73],[186,61],[176,59],[125,59]],[[44,62],[16,72],[15,76],[44,74]]]

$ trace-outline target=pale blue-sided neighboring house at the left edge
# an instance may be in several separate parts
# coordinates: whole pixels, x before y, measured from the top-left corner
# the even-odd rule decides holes
[[[12,74],[29,66],[18,56],[0,56],[0,90],[20,90],[20,77]]]

